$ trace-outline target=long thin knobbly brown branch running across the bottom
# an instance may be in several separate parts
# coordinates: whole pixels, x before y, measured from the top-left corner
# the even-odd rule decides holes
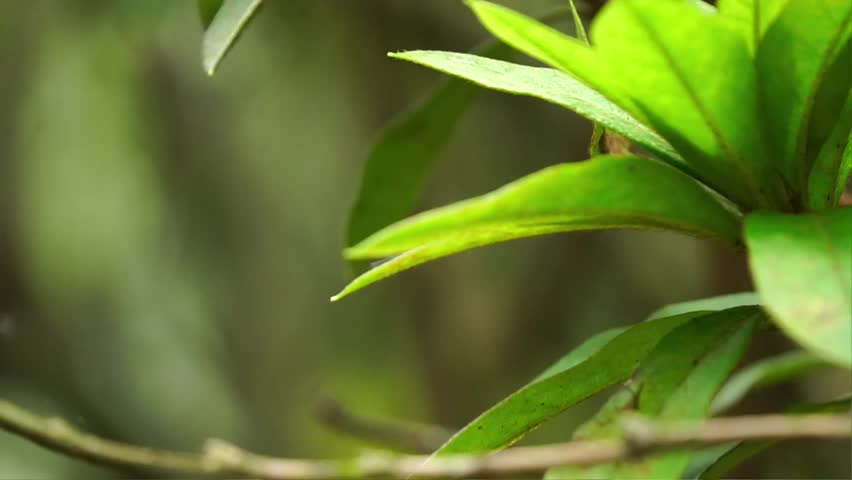
[[[361,478],[509,478],[551,467],[612,463],[665,450],[699,448],[742,440],[843,439],[852,436],[850,415],[758,415],[706,422],[652,422],[626,417],[623,439],[518,447],[485,455],[371,455],[354,460],[295,460],[247,452],[209,440],[203,453],[138,447],[99,438],[0,400],[0,429],[50,450],[91,463],[184,475],[248,476],[269,480]]]

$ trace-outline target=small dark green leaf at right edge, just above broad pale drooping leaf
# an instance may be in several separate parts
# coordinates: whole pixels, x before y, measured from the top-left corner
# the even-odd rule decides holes
[[[850,50],[852,52],[852,50]],[[852,65],[852,62],[850,62]],[[852,70],[852,69],[850,69]],[[814,161],[808,179],[808,207],[825,210],[840,201],[852,173],[852,95]]]

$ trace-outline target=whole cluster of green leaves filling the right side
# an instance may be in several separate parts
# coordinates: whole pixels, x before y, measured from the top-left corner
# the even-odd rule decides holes
[[[244,7],[230,15],[234,32],[258,2],[226,0],[225,6],[231,2]],[[507,447],[618,384],[623,388],[575,438],[617,435],[615,419],[624,410],[703,418],[755,386],[825,364],[852,368],[852,209],[839,206],[852,172],[852,4],[718,4],[613,0],[587,38],[571,3],[578,33],[572,38],[505,7],[470,0],[502,44],[483,45],[479,55],[391,54],[456,78],[394,122],[370,153],[345,256],[387,260],[333,300],[464,250],[609,228],[666,229],[745,247],[757,286],[756,294],[669,306],[596,335],[437,454]],[[220,46],[234,36],[218,33],[228,39]],[[507,62],[507,46],[548,67]],[[221,55],[210,58],[215,64]],[[479,86],[537,97],[588,118],[596,125],[592,158],[404,219]],[[629,140],[635,153],[599,154],[601,132]],[[773,326],[803,350],[729,378],[754,335]],[[680,478],[687,471],[715,478],[764,447],[556,469],[547,478]]]

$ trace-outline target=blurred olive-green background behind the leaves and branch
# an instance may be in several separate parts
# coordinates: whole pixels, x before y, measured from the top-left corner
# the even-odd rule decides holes
[[[346,455],[363,445],[319,426],[320,398],[458,427],[595,332],[750,288],[725,247],[598,232],[475,251],[331,304],[364,156],[440,80],[385,53],[468,50],[484,30],[453,0],[269,1],[212,78],[200,37],[190,0],[0,2],[3,397],[130,442]],[[483,91],[421,207],[582,160],[590,133]],[[769,334],[758,350],[785,348]],[[849,383],[812,376],[743,408]],[[567,438],[594,405],[532,441]],[[836,449],[793,451],[801,472],[743,475],[849,475]],[[109,476],[0,434],[0,478]]]

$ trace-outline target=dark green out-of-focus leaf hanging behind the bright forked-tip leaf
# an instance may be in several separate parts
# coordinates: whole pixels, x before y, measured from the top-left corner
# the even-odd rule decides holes
[[[567,14],[568,10],[557,9],[541,19],[551,23]],[[476,48],[475,54],[499,60],[515,55],[515,51],[492,39]],[[479,85],[465,79],[447,79],[381,133],[361,175],[361,187],[349,215],[346,245],[354,245],[412,213],[426,177],[480,90]]]

